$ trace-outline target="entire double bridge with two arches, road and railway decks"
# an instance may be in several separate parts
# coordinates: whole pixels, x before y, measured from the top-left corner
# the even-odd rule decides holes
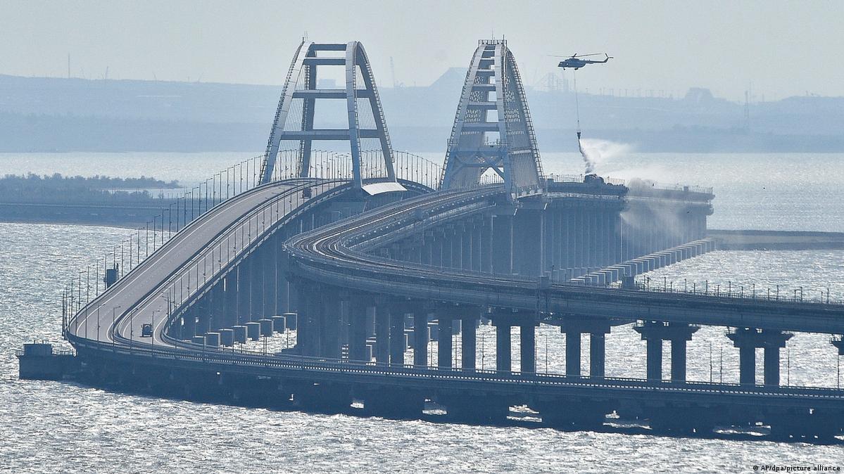
[[[317,89],[323,67],[344,67],[346,88]],[[349,127],[315,129],[317,100],[344,100]],[[345,140],[349,154],[315,151],[315,140]],[[828,333],[844,353],[844,305],[828,294],[636,284],[636,274],[713,250],[712,191],[544,175],[503,40],[473,54],[442,168],[392,149],[360,43],[303,42],[266,154],[246,180],[242,169],[223,179],[185,197],[175,233],[162,214],[151,236],[138,231],[119,258],[68,285],[63,333],[84,380],[328,411],[362,401],[391,417],[436,402],[471,423],[527,406],[560,428],[597,428],[610,413],[658,433],[764,424],[785,439],[829,440],[844,428],[844,391],[780,383],[794,332]],[[477,366],[487,322],[495,369]],[[605,336],[631,323],[647,342],[647,378],[606,376]],[[565,333],[563,374],[537,370],[540,325]],[[686,345],[704,325],[728,328],[740,383],[686,380]],[[292,347],[254,350],[284,331],[295,332]]]

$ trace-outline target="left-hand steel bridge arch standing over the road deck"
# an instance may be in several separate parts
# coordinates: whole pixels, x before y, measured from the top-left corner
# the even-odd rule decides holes
[[[345,68],[345,89],[317,89],[317,71],[327,66]],[[317,99],[345,100],[349,127],[315,129],[314,110]],[[366,127],[366,124],[369,127]],[[298,142],[296,175],[306,177],[311,167],[311,146],[314,141],[348,141],[352,158],[354,186],[363,187],[361,173],[361,140],[378,140],[385,178],[396,182],[392,147],[387,121],[381,109],[375,78],[363,45],[358,41],[346,44],[317,44],[303,40],[296,50],[284,81],[273,128],[264,154],[261,183],[273,179],[273,170],[282,142]]]

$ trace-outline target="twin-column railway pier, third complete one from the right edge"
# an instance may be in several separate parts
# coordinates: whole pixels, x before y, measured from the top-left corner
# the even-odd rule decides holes
[[[581,335],[589,334],[589,376],[602,378],[606,373],[606,339],[609,320],[569,317],[563,320],[560,332],[565,333],[565,374],[581,376]]]

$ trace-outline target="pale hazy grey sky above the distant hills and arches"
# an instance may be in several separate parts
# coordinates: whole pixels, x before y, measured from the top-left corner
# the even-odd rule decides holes
[[[738,100],[844,95],[844,2],[39,2],[0,0],[0,73],[279,84],[300,37],[363,42],[382,86],[467,67],[506,35],[525,83],[549,54],[607,51],[582,89],[690,86]],[[566,72],[567,75],[570,73]],[[571,76],[569,76],[571,77]]]

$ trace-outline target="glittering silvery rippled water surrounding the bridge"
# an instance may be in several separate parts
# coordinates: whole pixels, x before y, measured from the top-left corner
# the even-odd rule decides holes
[[[30,168],[27,164],[12,170],[14,166],[9,164],[8,156],[0,155],[0,174],[25,170],[68,172],[56,165],[60,161],[57,157],[62,156],[68,158],[68,155],[48,155],[41,157],[41,161],[31,158],[41,168],[35,165]],[[734,175],[765,166],[758,155],[751,155],[757,157],[755,164],[742,161],[744,155],[718,156],[721,158],[704,155],[703,158],[711,161],[690,164],[697,162],[685,155],[678,163],[681,168],[688,168],[682,171],[685,177],[700,176],[697,181],[716,186],[720,196],[749,192],[748,186],[737,184],[739,180]],[[814,156],[824,163],[835,158],[834,155]],[[172,157],[156,155],[153,164],[144,165],[142,158],[114,154],[114,163],[98,162],[89,168],[84,168],[86,161],[81,155],[74,154],[69,160],[84,170],[91,170],[91,173],[80,173],[92,175],[138,175],[156,168],[157,164],[173,161]],[[560,156],[560,160],[569,158]],[[172,170],[170,174],[156,177],[199,179],[242,156],[194,154],[185,159],[192,160],[190,166],[172,164],[171,168],[164,168]],[[791,160],[779,155],[771,159],[792,166],[788,169],[791,173],[798,169],[798,164],[791,164]],[[661,166],[670,167],[671,163],[663,159]],[[732,172],[723,170],[725,163],[735,164]],[[197,170],[200,165],[207,168]],[[549,160],[546,170],[552,166],[553,160]],[[833,178],[841,178],[842,165],[830,164],[830,167],[828,172],[812,171],[800,178],[773,172],[771,182],[776,181],[777,186],[787,190],[785,198],[771,201],[755,213],[744,209],[741,202],[719,201],[712,221],[733,228],[842,230],[841,191],[832,185]],[[719,191],[717,184],[711,182],[716,178],[704,179],[709,170],[725,180],[728,191]],[[749,182],[755,183],[753,186],[764,181],[749,176]],[[801,199],[808,199],[799,191],[801,186],[808,186],[803,180],[818,181],[812,188],[811,206],[821,206],[814,202],[815,197],[825,196],[821,207],[812,207],[814,210],[806,213],[795,210],[803,205]],[[327,416],[123,395],[70,383],[17,380],[14,351],[23,342],[43,338],[61,343],[59,282],[94,256],[102,255],[125,234],[126,229],[102,227],[0,224],[0,347],[3,347],[0,351],[0,468],[3,471],[670,472],[750,471],[755,464],[770,463],[844,465],[844,448],[840,445],[567,433],[548,428]],[[744,286],[745,292],[754,283],[757,291],[780,284],[783,294],[803,285],[808,294],[830,288],[832,294],[841,295],[844,294],[842,270],[844,251],[838,250],[719,251],[648,276],[651,284],[663,281],[673,281],[674,285],[706,284],[708,281],[709,285],[721,285],[721,288]],[[479,364],[484,358],[487,368],[495,360],[490,347],[491,331],[486,326],[479,331],[479,338],[490,343],[484,346],[483,355],[479,351]],[[695,334],[689,344],[691,380],[738,380],[738,351],[731,347],[723,332],[724,328],[711,327]],[[284,336],[273,339],[275,347],[286,344]],[[547,364],[550,371],[560,372],[565,365],[564,343],[565,337],[559,332],[542,327],[537,338],[538,369],[544,370]],[[587,353],[588,338],[584,337],[583,345]],[[791,350],[784,351],[782,356],[783,383],[836,385],[837,361],[828,337],[801,334],[789,346]],[[518,347],[517,337],[513,347]],[[630,326],[614,328],[607,337],[607,350],[609,375],[644,376],[644,342]],[[517,364],[517,353],[514,359]],[[664,371],[668,372],[668,365]],[[587,373],[586,357],[584,372]]]

